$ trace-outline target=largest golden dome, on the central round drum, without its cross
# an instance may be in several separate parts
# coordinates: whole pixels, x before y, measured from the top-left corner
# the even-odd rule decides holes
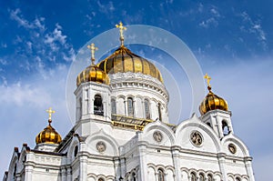
[[[98,67],[104,70],[106,74],[132,72],[151,75],[163,83],[162,76],[156,65],[132,53],[124,45],[121,45],[114,54],[109,55],[105,60],[98,63]]]

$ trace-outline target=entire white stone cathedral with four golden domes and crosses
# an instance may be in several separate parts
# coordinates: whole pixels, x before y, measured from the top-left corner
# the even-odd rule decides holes
[[[36,146],[15,147],[3,181],[254,181],[248,147],[233,131],[227,101],[210,77],[201,116],[169,124],[169,96],[157,66],[120,45],[76,78],[75,125],[63,138],[52,126]],[[235,113],[236,114],[236,113]],[[38,132],[38,130],[37,130]]]

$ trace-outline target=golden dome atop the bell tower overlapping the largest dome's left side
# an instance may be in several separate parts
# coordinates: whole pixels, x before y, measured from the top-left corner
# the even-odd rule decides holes
[[[90,81],[106,85],[109,84],[108,75],[106,75],[106,72],[101,70],[97,65],[89,65],[84,71],[77,75],[76,86]]]

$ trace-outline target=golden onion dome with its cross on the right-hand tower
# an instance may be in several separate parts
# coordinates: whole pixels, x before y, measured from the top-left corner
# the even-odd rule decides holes
[[[227,111],[227,101],[224,98],[217,96],[213,92],[211,92],[211,86],[209,85],[210,77],[206,74],[205,78],[207,78],[207,89],[209,92],[199,106],[200,114],[203,116],[208,111],[215,109]]]

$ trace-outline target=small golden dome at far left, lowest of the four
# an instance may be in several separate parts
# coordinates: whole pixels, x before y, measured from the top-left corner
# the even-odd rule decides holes
[[[62,141],[62,137],[56,132],[55,128],[51,126],[51,122],[52,120],[48,119],[48,126],[36,136],[36,144],[59,144]]]

